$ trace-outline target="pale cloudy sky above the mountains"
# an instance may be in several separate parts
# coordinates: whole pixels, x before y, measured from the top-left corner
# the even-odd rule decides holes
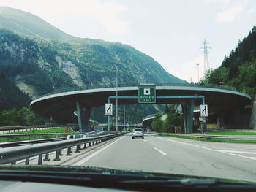
[[[255,0],[0,0],[0,6],[31,12],[75,37],[131,45],[187,82],[203,77],[204,39],[216,69],[256,25]]]

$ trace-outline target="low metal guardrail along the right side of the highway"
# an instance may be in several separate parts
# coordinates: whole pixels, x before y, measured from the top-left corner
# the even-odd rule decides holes
[[[256,139],[256,135],[208,135],[208,134],[160,134],[160,135],[170,135],[170,136],[178,136],[178,137],[197,137],[202,139],[246,139],[246,140],[254,140]]]

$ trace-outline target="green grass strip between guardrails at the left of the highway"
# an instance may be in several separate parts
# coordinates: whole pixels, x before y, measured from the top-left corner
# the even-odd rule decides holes
[[[74,132],[71,128],[69,132]],[[20,132],[11,132],[6,134],[61,134],[65,133],[65,128],[52,128],[52,129],[33,129],[31,131],[20,131]],[[15,142],[22,140],[30,140],[30,139],[50,139],[55,138],[56,136],[31,136],[31,137],[12,137],[12,138],[0,138],[0,142]]]

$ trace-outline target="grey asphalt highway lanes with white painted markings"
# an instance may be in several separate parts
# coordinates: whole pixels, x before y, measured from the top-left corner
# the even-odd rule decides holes
[[[256,145],[199,142],[131,134],[103,145],[73,165],[143,170],[256,181]]]

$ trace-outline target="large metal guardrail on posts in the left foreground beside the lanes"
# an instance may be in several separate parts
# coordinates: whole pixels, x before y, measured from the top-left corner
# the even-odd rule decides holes
[[[108,139],[113,139],[114,137],[121,136],[122,134],[110,134],[99,137],[90,137],[90,138],[81,138],[81,139],[69,139],[59,142],[50,142],[50,143],[39,143],[34,145],[19,146],[19,147],[10,147],[0,149],[0,164],[16,164],[17,161],[25,159],[25,164],[29,164],[29,158],[38,155],[38,164],[42,165],[42,155],[45,154],[44,161],[49,161],[49,153],[56,152],[55,159],[59,161],[59,155],[61,150],[67,148],[67,155],[71,155],[71,147],[76,146],[76,152],[79,152],[82,148],[81,145],[84,145],[84,148],[91,147],[99,142],[103,142]],[[89,146],[87,146],[89,143]]]

